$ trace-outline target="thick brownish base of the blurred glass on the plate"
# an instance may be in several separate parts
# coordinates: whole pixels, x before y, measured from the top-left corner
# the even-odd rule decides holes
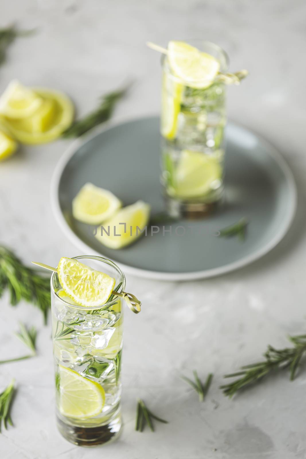
[[[214,202],[189,202],[180,201],[170,196],[165,196],[165,206],[167,214],[173,218],[187,218],[195,220],[198,218],[205,218],[220,210],[223,205],[223,196],[220,196]]]

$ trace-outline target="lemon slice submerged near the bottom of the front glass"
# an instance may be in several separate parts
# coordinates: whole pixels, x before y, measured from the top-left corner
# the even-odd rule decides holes
[[[59,365],[59,409],[63,416],[87,419],[101,413],[105,391],[100,384]]]

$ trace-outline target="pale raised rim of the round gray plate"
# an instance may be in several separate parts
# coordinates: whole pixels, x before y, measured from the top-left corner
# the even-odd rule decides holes
[[[59,183],[61,179],[61,174],[64,168],[66,167],[67,162],[70,160],[70,158],[74,155],[74,153],[77,151],[77,149],[80,146],[83,146],[85,143],[87,143],[89,140],[93,139],[100,133],[105,132],[109,129],[112,129],[116,126],[119,126],[121,124],[127,124],[127,123],[142,121],[144,119],[152,119],[156,117],[158,118],[158,116],[159,115],[156,115],[156,114],[155,115],[150,114],[147,116],[140,116],[140,117],[136,116],[132,118],[121,117],[121,118],[117,118],[116,120],[108,121],[107,123],[104,123],[102,126],[95,128],[93,131],[90,131],[88,134],[84,134],[83,136],[78,137],[77,139],[73,140],[73,142],[64,151],[60,160],[57,162],[54,172],[52,174],[51,183],[50,183],[51,208],[56,218],[57,224],[61,228],[61,231],[64,233],[65,236],[67,236],[67,238],[72,242],[74,246],[78,247],[82,251],[85,251],[84,253],[87,253],[90,255],[104,256],[102,253],[97,252],[95,249],[89,247],[85,242],[83,242],[72,231],[72,229],[67,224],[61,212],[58,191],[59,191]],[[187,281],[187,280],[208,279],[211,277],[216,277],[221,274],[226,274],[226,273],[235,271],[236,269],[243,268],[244,266],[255,262],[259,258],[266,255],[268,252],[270,252],[284,238],[285,234],[288,232],[293,222],[293,219],[295,217],[295,212],[296,212],[296,206],[297,206],[297,189],[296,189],[294,175],[291,169],[289,168],[289,165],[285,161],[284,157],[277,150],[277,148],[273,146],[269,141],[265,140],[264,138],[261,137],[261,135],[254,133],[253,131],[251,131],[248,128],[245,128],[243,125],[240,125],[239,123],[234,123],[230,121],[228,122],[228,124],[231,124],[234,127],[238,127],[240,129],[242,128],[246,130],[247,132],[249,132],[250,134],[255,135],[256,138],[261,142],[261,144],[268,151],[268,154],[271,157],[273,157],[273,159],[278,163],[279,168],[284,173],[285,179],[287,181],[288,189],[289,189],[289,195],[290,195],[289,202],[291,202],[291,205],[289,208],[289,212],[287,212],[287,216],[283,221],[282,226],[278,230],[278,233],[274,235],[274,237],[267,244],[265,244],[263,247],[261,247],[256,252],[250,255],[247,255],[245,257],[242,257],[240,258],[240,260],[237,260],[233,263],[228,263],[218,268],[204,269],[201,271],[192,271],[192,272],[189,271],[187,273],[165,273],[163,271],[151,271],[149,269],[135,268],[128,264],[117,262],[115,259],[111,258],[111,260],[114,263],[116,263],[122,269],[123,272],[132,274],[138,277],[142,277],[145,279],[151,279],[151,280],[166,280],[166,281],[186,280]]]

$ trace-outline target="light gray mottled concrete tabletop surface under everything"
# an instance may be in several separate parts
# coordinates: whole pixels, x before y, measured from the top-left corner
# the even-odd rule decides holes
[[[166,283],[128,276],[143,301],[126,314],[123,360],[124,429],[103,448],[75,447],[59,435],[54,417],[50,324],[22,303],[0,301],[1,358],[21,355],[18,320],[39,327],[39,356],[0,366],[0,388],[18,385],[14,428],[0,435],[9,459],[293,459],[306,457],[306,374],[278,375],[233,400],[218,386],[223,374],[258,359],[268,343],[305,332],[305,39],[306,5],[294,0],[0,0],[0,24],[38,27],[11,46],[0,67],[0,91],[12,78],[58,88],[78,113],[128,78],[136,83],[116,117],[159,110],[159,56],[146,40],[203,38],[223,45],[231,69],[248,68],[241,87],[228,90],[229,116],[272,141],[294,171],[299,206],[279,246],[253,265],[216,279]],[[50,209],[50,178],[69,141],[22,147],[0,164],[0,243],[23,260],[56,265],[78,254]],[[205,403],[179,375],[197,368],[215,374]],[[305,369],[305,368],[304,368]],[[156,432],[134,431],[135,400],[143,397],[169,420]]]

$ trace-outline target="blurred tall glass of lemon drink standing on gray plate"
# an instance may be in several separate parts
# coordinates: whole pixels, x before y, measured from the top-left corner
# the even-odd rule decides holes
[[[219,71],[227,71],[222,48],[200,40],[188,44],[214,56]],[[217,79],[191,87],[173,75],[167,56],[161,63],[161,183],[167,212],[196,218],[223,198],[226,88]]]

